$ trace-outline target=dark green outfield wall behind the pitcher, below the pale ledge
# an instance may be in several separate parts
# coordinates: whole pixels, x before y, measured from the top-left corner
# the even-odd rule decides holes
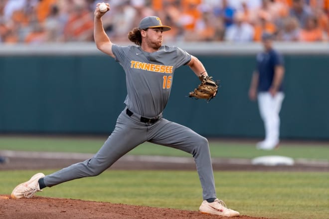
[[[165,118],[208,137],[262,137],[248,99],[255,55],[197,55],[214,79],[210,103],[187,98],[199,83],[188,67],[174,75]],[[282,138],[329,139],[329,55],[286,54]],[[101,55],[0,56],[0,133],[111,133],[124,108],[125,74]]]

